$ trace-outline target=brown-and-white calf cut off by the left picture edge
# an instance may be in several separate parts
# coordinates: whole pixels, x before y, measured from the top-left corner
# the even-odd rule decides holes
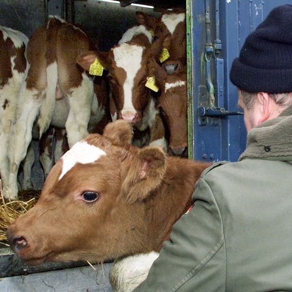
[[[0,177],[3,188],[9,180],[9,135],[17,118],[18,100],[28,71],[27,43],[28,37],[21,32],[0,26]]]

